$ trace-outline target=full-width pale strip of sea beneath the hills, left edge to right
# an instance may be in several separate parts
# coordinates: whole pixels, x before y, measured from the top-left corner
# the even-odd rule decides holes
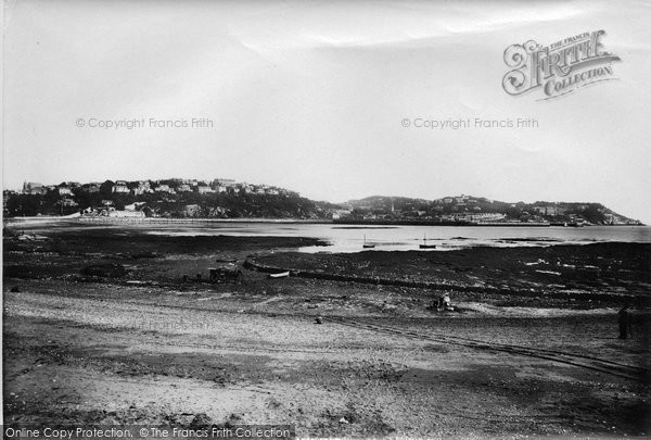
[[[61,217],[5,219],[4,226],[27,228],[31,234],[53,228],[118,228],[138,229],[145,234],[181,236],[233,237],[307,237],[326,246],[292,248],[298,252],[346,253],[361,251],[445,252],[473,247],[547,247],[554,244],[588,244],[596,242],[651,243],[651,226],[401,226],[342,225],[292,221],[182,221],[148,219],[145,222],[62,221]],[[372,248],[365,248],[372,246]],[[421,249],[420,244],[435,248]],[[280,249],[279,249],[280,250]]]

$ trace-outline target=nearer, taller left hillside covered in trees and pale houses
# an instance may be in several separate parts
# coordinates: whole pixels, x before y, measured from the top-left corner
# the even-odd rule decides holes
[[[283,188],[229,179],[25,184],[21,192],[3,192],[7,217],[80,212],[85,216],[319,219],[328,217],[328,206]]]

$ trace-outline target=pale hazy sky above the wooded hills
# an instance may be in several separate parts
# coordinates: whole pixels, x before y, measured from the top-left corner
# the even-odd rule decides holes
[[[222,177],[332,202],[601,202],[651,223],[649,2],[27,0],[3,22],[5,189]],[[551,100],[502,88],[509,46],[599,29],[615,80]],[[445,120],[473,126],[422,126]]]

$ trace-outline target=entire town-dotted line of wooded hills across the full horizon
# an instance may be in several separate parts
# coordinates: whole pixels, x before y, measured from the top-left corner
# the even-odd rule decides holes
[[[26,181],[21,191],[3,191],[5,217],[74,214],[82,218],[289,218],[344,224],[641,225],[600,203],[509,203],[464,194],[435,200],[375,196],[330,203],[276,186],[227,178]]]

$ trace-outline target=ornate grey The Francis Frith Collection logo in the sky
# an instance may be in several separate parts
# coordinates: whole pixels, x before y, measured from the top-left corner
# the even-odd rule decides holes
[[[505,62],[511,71],[502,79],[505,91],[516,96],[540,89],[540,100],[545,100],[616,79],[612,63],[621,60],[605,51],[601,41],[604,35],[604,30],[595,30],[545,47],[534,40],[509,46]]]

